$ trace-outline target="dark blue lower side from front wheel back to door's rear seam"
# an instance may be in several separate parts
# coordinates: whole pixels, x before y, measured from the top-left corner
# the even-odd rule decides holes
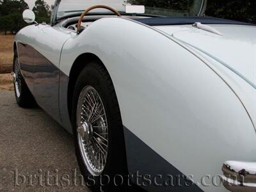
[[[18,43],[22,75],[38,105],[57,122],[59,111],[60,70],[33,47]]]

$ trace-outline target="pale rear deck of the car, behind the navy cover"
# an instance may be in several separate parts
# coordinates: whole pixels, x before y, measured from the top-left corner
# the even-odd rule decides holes
[[[209,26],[223,36],[193,26],[156,28],[225,65],[256,89],[256,27],[221,24]]]

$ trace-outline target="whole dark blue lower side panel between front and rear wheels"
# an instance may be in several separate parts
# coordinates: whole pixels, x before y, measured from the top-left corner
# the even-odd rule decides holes
[[[68,114],[68,76],[30,45],[18,43],[18,51],[22,74],[36,102],[72,132]]]

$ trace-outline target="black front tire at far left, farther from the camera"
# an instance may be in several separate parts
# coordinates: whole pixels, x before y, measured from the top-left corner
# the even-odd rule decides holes
[[[13,72],[15,72],[16,65],[19,65],[19,58],[17,56],[17,51],[15,51],[13,56]],[[20,106],[20,108],[33,108],[36,106],[35,99],[33,95],[31,94],[24,77],[22,76],[20,70],[20,94],[17,94],[17,90],[15,88],[15,81],[13,81],[14,86],[14,92],[15,92],[15,99],[17,101],[17,104]]]

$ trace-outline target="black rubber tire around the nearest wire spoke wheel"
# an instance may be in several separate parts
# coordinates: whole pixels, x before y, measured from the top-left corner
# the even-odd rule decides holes
[[[93,177],[86,168],[77,139],[77,102],[81,91],[88,85],[92,86],[99,93],[108,119],[108,158],[104,171],[98,177]],[[72,126],[74,131],[77,162],[84,180],[86,181],[86,185],[92,189],[92,191],[124,191],[124,188],[127,189],[125,184],[127,179],[124,179],[124,184],[118,184],[118,187],[113,184],[113,178],[115,175],[122,175],[124,178],[127,177],[124,130],[113,83],[106,69],[97,61],[88,63],[77,78],[72,102]],[[110,178],[109,183],[108,179],[105,178],[104,175],[108,175]],[[100,182],[104,185],[108,185],[102,186],[100,185]]]

